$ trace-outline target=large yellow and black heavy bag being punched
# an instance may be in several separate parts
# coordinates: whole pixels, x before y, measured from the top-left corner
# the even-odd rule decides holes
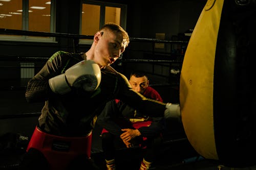
[[[185,133],[206,159],[256,164],[256,1],[208,0],[180,79]]]

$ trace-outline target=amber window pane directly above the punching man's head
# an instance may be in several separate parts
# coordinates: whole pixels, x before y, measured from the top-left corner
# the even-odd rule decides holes
[[[120,25],[121,8],[105,7],[105,23],[114,22]]]

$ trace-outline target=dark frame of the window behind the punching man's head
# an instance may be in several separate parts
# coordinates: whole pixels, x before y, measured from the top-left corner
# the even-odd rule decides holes
[[[80,27],[79,34],[81,35],[82,30],[82,5],[90,4],[90,5],[98,5],[100,6],[100,19],[99,19],[99,29],[105,24],[105,7],[115,7],[120,8],[120,26],[126,30],[126,18],[127,18],[127,5],[125,4],[117,4],[117,3],[108,3],[108,2],[100,2],[94,0],[82,0],[80,5]],[[96,32],[95,32],[96,33]],[[79,39],[79,44],[92,44],[93,40],[91,39]]]

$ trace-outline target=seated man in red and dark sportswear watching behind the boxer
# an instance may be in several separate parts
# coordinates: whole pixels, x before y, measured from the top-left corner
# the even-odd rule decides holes
[[[133,71],[129,80],[134,91],[148,99],[163,102],[160,94],[149,86],[144,72]],[[145,149],[140,170],[148,169],[157,157],[162,142],[161,132],[165,126],[164,117],[149,117],[139,113],[120,100],[106,104],[98,117],[102,130],[102,149],[108,170],[115,169],[114,139],[122,141],[127,148],[139,145]]]

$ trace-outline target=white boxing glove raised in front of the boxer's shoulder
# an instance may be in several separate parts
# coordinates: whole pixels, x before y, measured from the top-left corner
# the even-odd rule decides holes
[[[66,94],[71,87],[93,91],[98,88],[100,81],[99,65],[93,60],[83,60],[67,69],[65,74],[49,79],[49,84],[53,92]]]

